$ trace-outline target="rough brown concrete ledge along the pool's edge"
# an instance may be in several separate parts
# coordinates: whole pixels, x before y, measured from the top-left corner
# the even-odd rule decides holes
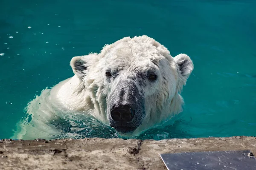
[[[160,153],[251,150],[256,137],[0,140],[0,170],[166,170]]]

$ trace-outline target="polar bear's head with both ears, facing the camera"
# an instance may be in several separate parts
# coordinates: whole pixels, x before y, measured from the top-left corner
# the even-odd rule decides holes
[[[194,68],[189,56],[172,57],[145,35],[73,57],[70,65],[87,91],[93,116],[122,134],[141,133],[182,111],[179,93]]]

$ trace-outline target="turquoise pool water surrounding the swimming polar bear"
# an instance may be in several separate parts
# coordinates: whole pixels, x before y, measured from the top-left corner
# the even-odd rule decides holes
[[[256,1],[1,0],[0,7],[0,139],[13,135],[35,95],[73,76],[72,57],[143,34],[172,56],[188,54],[195,69],[184,111],[139,139],[256,136]],[[92,118],[63,124],[76,138],[117,137]]]

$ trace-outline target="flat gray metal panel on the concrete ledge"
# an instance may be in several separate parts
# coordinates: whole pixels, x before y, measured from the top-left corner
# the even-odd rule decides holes
[[[168,170],[256,170],[250,150],[160,154]]]

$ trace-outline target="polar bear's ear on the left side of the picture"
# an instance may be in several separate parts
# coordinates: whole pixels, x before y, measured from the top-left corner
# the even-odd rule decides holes
[[[82,79],[86,75],[88,62],[85,56],[73,57],[70,61],[70,65],[74,74]]]

